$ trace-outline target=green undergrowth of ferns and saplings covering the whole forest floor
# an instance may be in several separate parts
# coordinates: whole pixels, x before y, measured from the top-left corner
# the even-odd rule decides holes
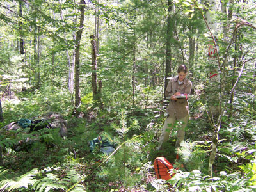
[[[55,102],[58,99],[51,97],[56,96],[58,93],[53,92],[48,100]],[[175,128],[163,150],[156,150],[164,122],[164,106],[156,104],[141,109],[124,105],[109,110],[93,109],[92,100],[85,98],[84,104],[77,109],[79,114],[72,115],[73,109],[70,109],[66,96],[62,97],[60,108],[54,104],[46,108],[46,97],[40,94],[36,95],[38,98],[31,96],[28,100],[23,95],[17,104],[4,103],[6,124],[19,118],[40,116],[40,112],[48,109],[56,110],[67,120],[68,136],[60,138],[56,132],[36,132],[31,136],[41,140],[15,150],[18,139],[28,137],[29,133],[1,132],[0,191],[254,190],[256,145],[253,115],[232,119],[224,116],[214,161],[214,178],[211,179],[207,176],[207,165],[212,127],[202,109],[203,104],[197,99],[191,100],[193,108],[186,141],[175,151]],[[39,109],[40,102],[42,108]],[[30,112],[25,115],[26,111]],[[115,143],[115,153],[107,156],[99,151],[90,152],[89,141],[97,136]],[[172,170],[176,174],[168,182],[156,178],[153,163],[159,156],[166,157],[175,168],[179,168]]]

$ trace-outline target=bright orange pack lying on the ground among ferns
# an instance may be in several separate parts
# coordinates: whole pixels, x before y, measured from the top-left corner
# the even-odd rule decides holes
[[[168,170],[173,169],[172,164],[165,157],[156,157],[154,161],[154,169],[157,179],[169,180],[172,178]]]

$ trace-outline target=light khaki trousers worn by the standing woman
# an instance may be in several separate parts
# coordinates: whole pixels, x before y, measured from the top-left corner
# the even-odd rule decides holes
[[[188,124],[188,118],[189,118],[189,115],[185,116],[184,118],[182,118],[178,121],[178,124],[177,124],[177,141],[176,141],[175,148],[180,147],[181,141],[184,141],[185,127]],[[162,147],[163,143],[165,143],[168,140],[169,135],[172,132],[173,125],[175,124],[176,121],[177,121],[176,117],[168,116],[166,118],[166,120],[164,122],[164,127],[163,127],[163,130],[162,130],[161,136],[159,138],[159,145],[157,147],[158,150]]]

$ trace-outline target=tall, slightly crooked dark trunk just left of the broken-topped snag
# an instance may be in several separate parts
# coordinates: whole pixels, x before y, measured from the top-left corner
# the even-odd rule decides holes
[[[76,33],[76,56],[75,56],[75,106],[78,107],[81,102],[80,97],[80,41],[83,33],[84,26],[84,8],[85,2],[84,0],[80,0],[80,24],[79,30]]]

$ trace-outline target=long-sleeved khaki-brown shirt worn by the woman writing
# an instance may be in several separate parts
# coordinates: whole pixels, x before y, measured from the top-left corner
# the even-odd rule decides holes
[[[178,83],[179,77],[172,77],[165,90],[165,97],[172,97],[174,93],[180,92],[180,94],[190,94],[192,88],[192,82],[188,79],[184,79],[182,84]],[[188,101],[184,98],[179,98],[177,101],[171,100],[166,113],[171,117],[176,117],[180,120],[189,114]]]

